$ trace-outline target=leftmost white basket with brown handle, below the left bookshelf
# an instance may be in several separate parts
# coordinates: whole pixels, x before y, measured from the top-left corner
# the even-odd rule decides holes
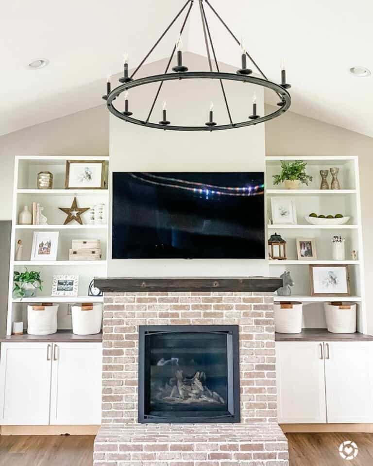
[[[27,333],[51,335],[57,331],[58,304],[54,306],[27,306]]]

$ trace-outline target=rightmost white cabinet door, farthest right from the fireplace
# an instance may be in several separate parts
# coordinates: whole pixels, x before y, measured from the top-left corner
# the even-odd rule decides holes
[[[373,422],[373,342],[324,345],[328,422]]]

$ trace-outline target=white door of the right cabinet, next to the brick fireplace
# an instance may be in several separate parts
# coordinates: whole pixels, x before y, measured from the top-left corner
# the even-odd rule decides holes
[[[326,422],[322,343],[276,343],[279,423]]]

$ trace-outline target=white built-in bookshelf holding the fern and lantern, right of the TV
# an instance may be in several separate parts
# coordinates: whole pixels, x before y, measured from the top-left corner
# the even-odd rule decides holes
[[[313,180],[308,186],[287,190],[273,184],[273,175],[280,173],[281,160],[304,160],[306,172]],[[340,190],[320,190],[320,170],[338,167]],[[331,176],[328,176],[330,186]],[[266,157],[266,201],[268,218],[272,218],[271,199],[288,197],[294,201],[297,211],[297,224],[268,224],[268,237],[278,233],[287,242],[287,260],[269,259],[270,275],[279,276],[285,270],[290,271],[294,279],[291,296],[276,296],[275,301],[301,301],[304,303],[305,328],[325,326],[322,306],[327,301],[348,301],[357,304],[357,329],[367,333],[366,303],[364,289],[363,242],[361,227],[360,182],[358,159],[356,156],[269,156]],[[341,213],[349,216],[343,225],[308,224],[305,216],[311,212],[319,214]],[[332,237],[345,238],[345,260],[332,260]],[[310,238],[316,244],[317,259],[298,260],[296,239]],[[352,250],[357,251],[357,260],[351,257]],[[351,296],[311,296],[310,265],[347,265],[350,275]],[[308,313],[308,315],[307,315]]]

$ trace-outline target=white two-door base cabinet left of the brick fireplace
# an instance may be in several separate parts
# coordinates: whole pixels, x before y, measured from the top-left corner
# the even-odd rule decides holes
[[[2,425],[101,424],[101,343],[2,343]]]

